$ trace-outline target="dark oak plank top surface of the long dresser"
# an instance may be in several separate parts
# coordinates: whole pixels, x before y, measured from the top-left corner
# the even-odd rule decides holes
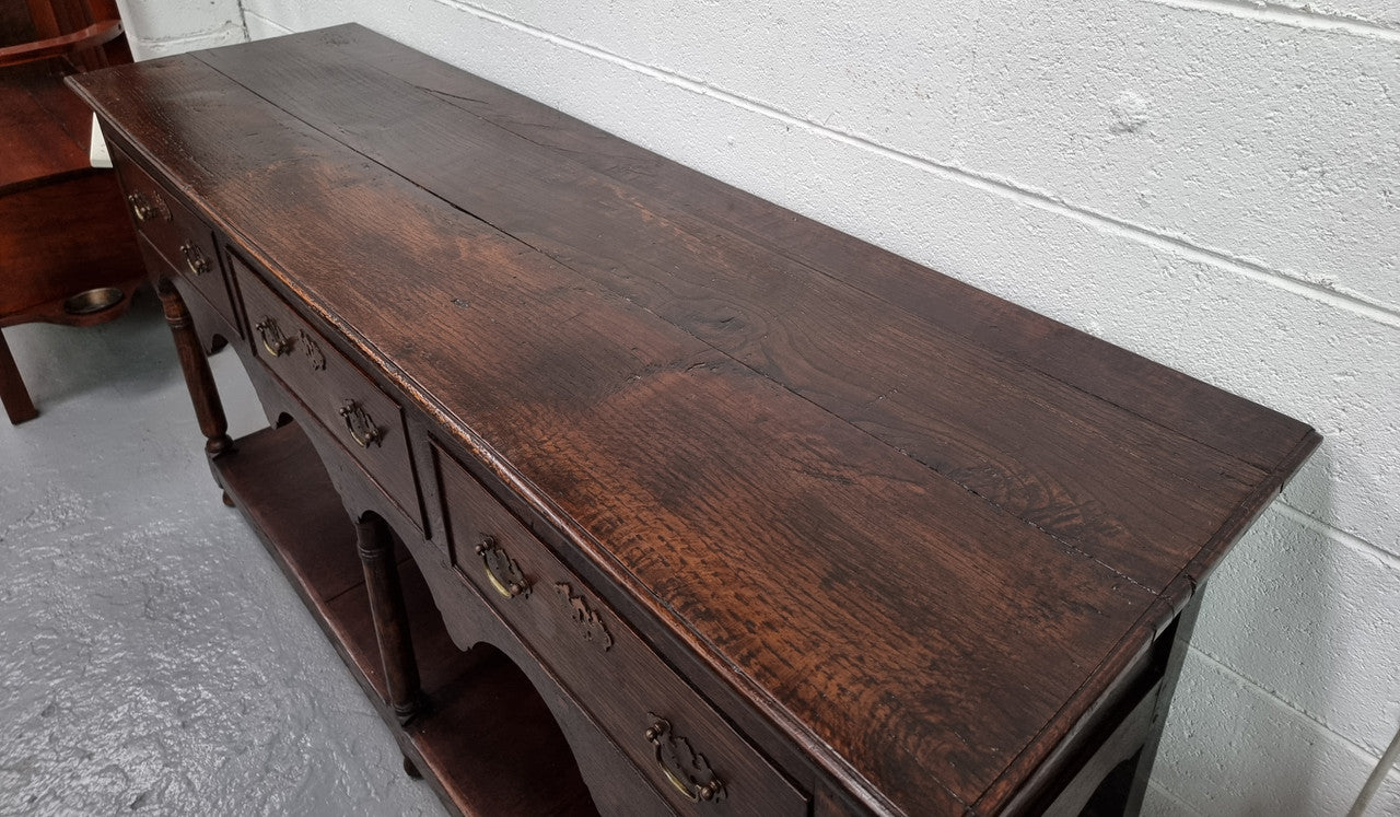
[[[878,809],[997,810],[1319,442],[360,27],[76,85]]]

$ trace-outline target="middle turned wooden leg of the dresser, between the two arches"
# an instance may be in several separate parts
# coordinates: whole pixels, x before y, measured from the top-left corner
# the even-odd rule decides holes
[[[370,614],[374,634],[379,639],[379,659],[384,680],[389,687],[389,705],[399,723],[412,720],[420,709],[419,663],[413,658],[413,637],[409,634],[409,614],[403,607],[399,568],[393,561],[393,539],[389,526],[374,515],[356,523],[364,583],[370,590]]]

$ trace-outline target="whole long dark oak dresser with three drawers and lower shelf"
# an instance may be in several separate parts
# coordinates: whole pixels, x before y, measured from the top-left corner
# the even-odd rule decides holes
[[[360,27],[73,84],[216,478],[462,813],[1131,811],[1319,442]]]

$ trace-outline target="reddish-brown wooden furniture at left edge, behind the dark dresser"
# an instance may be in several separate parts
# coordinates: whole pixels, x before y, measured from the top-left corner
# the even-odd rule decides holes
[[[146,277],[116,175],[91,165],[92,113],[63,77],[132,62],[112,0],[0,0],[0,330],[116,318]],[[0,334],[10,422],[38,411]]]

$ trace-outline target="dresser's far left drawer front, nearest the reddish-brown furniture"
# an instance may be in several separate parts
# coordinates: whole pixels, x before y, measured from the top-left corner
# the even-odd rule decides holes
[[[111,150],[136,229],[238,332],[239,323],[218,263],[214,232],[130,157],[116,147]]]

